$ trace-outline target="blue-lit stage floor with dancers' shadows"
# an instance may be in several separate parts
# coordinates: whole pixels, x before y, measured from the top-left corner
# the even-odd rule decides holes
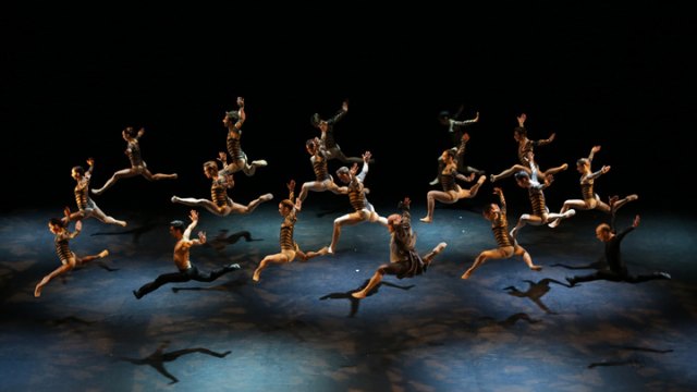
[[[313,205],[295,226],[304,249],[331,240],[346,212]],[[327,204],[329,205],[329,204]],[[387,216],[394,206],[377,206]],[[641,207],[643,208],[643,207]],[[623,242],[633,272],[672,280],[640,284],[564,278],[592,270],[602,255],[596,224],[579,211],[558,229],[526,226],[519,243],[543,270],[519,259],[491,260],[460,277],[494,247],[489,223],[466,203],[439,205],[435,222],[413,228],[421,254],[447,249],[414,279],[386,277],[352,301],[389,260],[389,234],[363,223],[342,232],[337,254],[252,272],[279,252],[277,203],[248,216],[200,211],[209,245],[192,250],[199,269],[237,262],[212,283],[167,284],[135,299],[132,290],[173,272],[169,222],[184,206],[111,210],[125,229],[89,219],[71,242],[78,255],[111,255],[34,286],[59,266],[48,218],[23,210],[1,217],[0,390],[3,391],[694,391],[697,387],[697,220],[627,205],[619,226],[641,213]],[[511,224],[521,211],[511,211]],[[73,226],[71,225],[71,229]],[[248,232],[246,241],[243,235]],[[557,264],[565,265],[553,266]],[[560,284],[561,283],[561,284]]]

